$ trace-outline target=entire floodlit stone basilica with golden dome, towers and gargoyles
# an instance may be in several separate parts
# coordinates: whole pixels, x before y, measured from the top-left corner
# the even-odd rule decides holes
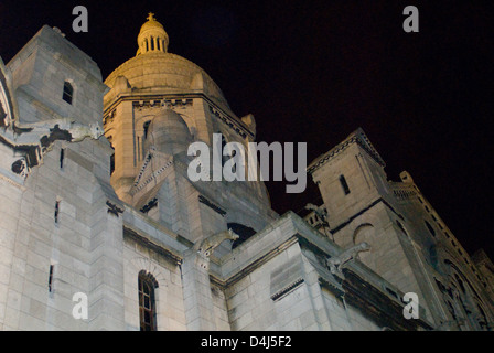
[[[154,14],[136,34],[106,79],[47,25],[0,60],[1,330],[494,330],[493,263],[358,127],[307,165],[303,214],[191,180],[191,143],[247,148],[256,119]]]

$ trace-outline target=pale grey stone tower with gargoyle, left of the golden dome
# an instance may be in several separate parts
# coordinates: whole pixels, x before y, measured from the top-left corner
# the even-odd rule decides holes
[[[122,207],[110,185],[112,150],[101,128],[79,133],[100,125],[107,90],[100,71],[45,25],[3,72],[10,124],[0,139],[0,329],[121,329],[124,314],[110,308],[121,301],[111,292],[122,287],[108,286],[122,227],[107,212]],[[90,321],[67,310],[77,292],[88,298]]]

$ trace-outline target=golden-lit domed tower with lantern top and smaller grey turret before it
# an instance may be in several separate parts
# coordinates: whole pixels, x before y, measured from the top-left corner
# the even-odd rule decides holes
[[[214,81],[170,53],[168,44],[150,13],[136,57],[105,81],[111,88],[104,113],[105,136],[115,149],[111,184],[121,200],[191,242],[232,223],[264,227],[273,213],[261,182],[189,180],[190,143],[212,146],[213,133],[221,133],[225,142],[247,147],[255,121],[251,115],[238,118]]]

